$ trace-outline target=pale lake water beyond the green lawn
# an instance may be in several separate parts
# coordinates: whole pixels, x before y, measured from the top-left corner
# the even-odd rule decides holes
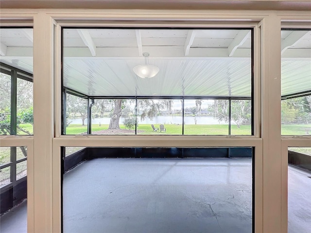
[[[219,121],[213,116],[185,116],[184,121],[186,124],[194,124],[194,119],[196,118],[198,125],[215,125],[215,124],[226,124],[225,121]],[[120,118],[120,123],[123,122],[123,117]],[[82,124],[82,119],[69,119],[70,124]],[[104,118],[93,118],[92,124],[109,124],[110,117]],[[155,116],[152,120],[149,118],[144,119],[143,121],[140,120],[138,117],[138,124],[182,124],[182,117],[181,116]],[[85,120],[85,124],[87,124],[87,120]]]

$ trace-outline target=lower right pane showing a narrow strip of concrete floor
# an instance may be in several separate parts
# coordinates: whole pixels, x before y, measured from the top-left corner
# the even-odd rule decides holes
[[[311,147],[288,148],[288,233],[311,229]]]

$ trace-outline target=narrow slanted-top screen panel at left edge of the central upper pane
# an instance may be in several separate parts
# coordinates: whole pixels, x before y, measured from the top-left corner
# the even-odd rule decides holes
[[[87,133],[87,99],[66,95],[66,134]]]

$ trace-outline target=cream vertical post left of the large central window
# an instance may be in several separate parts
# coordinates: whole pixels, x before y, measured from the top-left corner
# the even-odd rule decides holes
[[[52,18],[34,17],[34,232],[52,232]]]

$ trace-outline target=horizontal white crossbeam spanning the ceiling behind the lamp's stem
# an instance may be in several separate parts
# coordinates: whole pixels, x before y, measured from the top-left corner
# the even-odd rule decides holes
[[[152,54],[153,58],[174,57],[185,59],[184,46],[144,46],[144,50]],[[22,59],[26,57],[33,57],[32,47],[6,47],[1,43],[2,59]],[[90,50],[86,47],[68,47],[64,48],[65,57],[93,57]],[[96,58],[110,58],[119,59],[133,57],[138,58],[137,47],[128,48],[96,48]],[[191,48],[187,58],[208,58],[208,57],[228,57],[227,48]],[[249,58],[251,57],[251,50],[246,48],[237,48],[231,58]],[[95,58],[95,57],[94,57]],[[311,49],[287,49],[282,55],[282,59],[288,60],[311,60]]]

